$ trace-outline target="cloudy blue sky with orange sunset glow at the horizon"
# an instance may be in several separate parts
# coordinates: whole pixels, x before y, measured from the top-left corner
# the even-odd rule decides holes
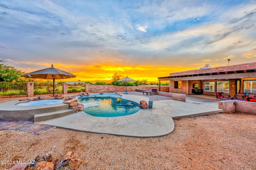
[[[0,59],[72,82],[256,62],[256,1],[0,0]]]

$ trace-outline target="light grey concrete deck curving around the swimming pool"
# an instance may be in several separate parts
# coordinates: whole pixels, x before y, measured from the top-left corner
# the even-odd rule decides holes
[[[146,102],[149,100],[146,95],[122,94],[122,98],[137,103],[140,103],[140,100],[146,100]],[[130,137],[160,137],[174,130],[173,119],[220,112],[222,112],[222,109],[204,106],[202,104],[179,102],[176,100],[158,100],[153,102],[152,109],[140,109],[137,113],[127,116],[94,117],[80,111],[36,123],[92,133],[106,133]]]

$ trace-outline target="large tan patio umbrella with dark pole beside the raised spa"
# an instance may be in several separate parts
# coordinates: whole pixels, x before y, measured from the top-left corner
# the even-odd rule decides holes
[[[45,68],[42,70],[22,74],[20,76],[23,76],[25,78],[40,78],[45,80],[53,80],[53,95],[54,95],[54,80],[76,77],[76,75],[74,74],[70,74],[66,71],[62,71],[57,68],[54,68],[53,64],[52,64],[52,67],[50,68]]]

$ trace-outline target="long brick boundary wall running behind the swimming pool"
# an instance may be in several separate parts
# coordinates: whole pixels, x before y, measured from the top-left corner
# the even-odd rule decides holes
[[[104,92],[125,92],[125,88],[127,91],[136,91],[136,89],[143,89],[143,90],[152,90],[157,89],[159,90],[159,86],[157,85],[138,85],[138,86],[113,86],[113,85],[90,85],[84,84],[85,92],[87,93],[98,93],[101,90]],[[161,86],[162,92],[169,92],[169,86]]]

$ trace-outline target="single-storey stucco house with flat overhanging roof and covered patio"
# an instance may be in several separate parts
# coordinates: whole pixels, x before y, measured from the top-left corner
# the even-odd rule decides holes
[[[233,96],[238,93],[256,94],[256,62],[183,72],[158,77],[158,81],[170,81],[169,91],[180,94],[216,95],[224,92]],[[160,83],[159,83],[160,84]]]

